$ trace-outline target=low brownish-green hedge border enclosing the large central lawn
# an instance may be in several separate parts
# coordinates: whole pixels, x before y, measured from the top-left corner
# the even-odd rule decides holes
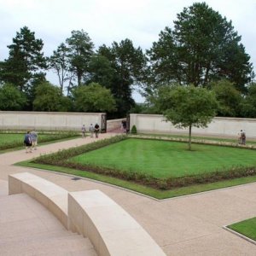
[[[149,139],[149,137],[145,137],[145,136],[129,136],[129,137]],[[81,170],[81,171],[87,171],[87,172],[95,172],[95,173],[107,175],[110,177],[118,177],[123,180],[131,181],[138,184],[143,184],[150,188],[161,189],[161,190],[182,188],[182,187],[195,185],[195,184],[214,183],[214,182],[233,179],[237,177],[248,177],[248,176],[256,175],[256,166],[249,166],[249,167],[235,166],[227,170],[218,170],[216,172],[205,173],[200,175],[158,179],[143,173],[138,173],[133,170],[131,170],[130,172],[126,172],[126,171],[121,171],[116,169],[104,168],[102,166],[96,166],[96,165],[95,166],[82,165],[82,164],[74,163],[70,161],[70,158],[72,158],[73,156],[76,156],[78,154],[84,154],[91,150],[96,150],[97,148],[106,147],[112,143],[119,143],[129,137],[127,137],[126,135],[121,135],[121,136],[111,137],[108,139],[97,141],[96,143],[86,144],[76,148],[64,149],[55,154],[42,155],[39,158],[32,160],[32,162],[37,164],[45,164],[45,165],[52,165],[52,166],[63,166],[63,167],[73,168],[75,170]],[[159,138],[156,138],[156,139],[159,139]],[[167,140],[177,141],[177,142],[186,142],[186,141],[183,141],[183,139],[182,141],[172,140],[172,138],[171,139],[168,138]],[[218,143],[212,143],[212,144],[218,145]],[[226,145],[222,144],[222,146],[226,146]],[[241,146],[241,148],[245,148],[245,146]],[[250,147],[250,149],[255,149],[255,148]]]

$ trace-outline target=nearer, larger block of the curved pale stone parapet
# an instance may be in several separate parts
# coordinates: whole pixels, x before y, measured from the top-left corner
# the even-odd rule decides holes
[[[100,190],[69,193],[68,216],[98,255],[166,255],[131,215]]]

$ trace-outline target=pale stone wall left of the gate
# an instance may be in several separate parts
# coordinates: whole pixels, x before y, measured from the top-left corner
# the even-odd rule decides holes
[[[0,130],[80,131],[85,125],[101,126],[104,113],[0,111]]]

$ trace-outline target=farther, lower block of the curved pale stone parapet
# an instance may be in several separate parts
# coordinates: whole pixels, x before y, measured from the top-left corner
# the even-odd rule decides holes
[[[67,190],[28,172],[9,175],[9,195],[26,193],[52,212],[68,229]]]

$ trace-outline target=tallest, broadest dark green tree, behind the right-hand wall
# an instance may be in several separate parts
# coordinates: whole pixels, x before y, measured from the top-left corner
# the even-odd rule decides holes
[[[207,86],[212,80],[230,79],[245,90],[253,78],[250,57],[231,21],[194,3],[177,15],[174,29],[166,27],[158,42],[148,50],[154,84]]]

